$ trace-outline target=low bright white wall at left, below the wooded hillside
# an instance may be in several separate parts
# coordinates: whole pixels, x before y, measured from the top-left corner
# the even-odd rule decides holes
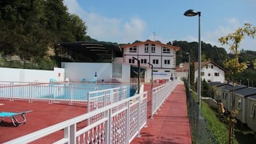
[[[49,82],[50,79],[63,82],[65,69],[54,67],[54,70],[40,70],[0,67],[0,81]]]

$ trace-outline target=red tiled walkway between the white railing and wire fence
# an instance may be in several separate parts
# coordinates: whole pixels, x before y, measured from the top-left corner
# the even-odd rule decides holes
[[[151,104],[148,110],[151,110]],[[143,128],[141,138],[135,138],[131,144],[191,144],[184,85],[176,86],[153,119],[149,115],[148,112],[148,127]]]

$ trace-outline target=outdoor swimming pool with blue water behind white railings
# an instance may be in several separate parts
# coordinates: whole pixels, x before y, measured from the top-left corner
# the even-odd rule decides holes
[[[11,99],[32,99],[32,100],[80,100],[86,101],[90,92],[90,97],[97,95],[110,95],[111,90],[115,90],[125,97],[131,97],[136,92],[136,85],[125,84],[99,84],[99,83],[49,83],[49,84],[29,84],[29,85],[9,85],[0,87],[1,98]],[[125,89],[125,90],[124,90]],[[105,91],[110,90],[110,91]],[[125,92],[125,93],[122,93]],[[120,98],[121,99],[121,98]]]

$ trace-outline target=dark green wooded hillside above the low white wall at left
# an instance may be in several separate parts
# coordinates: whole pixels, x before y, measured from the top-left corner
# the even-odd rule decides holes
[[[56,44],[90,40],[86,29],[61,0],[0,1],[0,64],[8,67],[16,60],[16,67],[52,69]]]

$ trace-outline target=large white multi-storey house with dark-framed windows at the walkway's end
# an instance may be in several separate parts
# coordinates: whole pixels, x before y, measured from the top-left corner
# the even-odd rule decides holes
[[[147,40],[121,46],[123,48],[123,62],[137,67],[138,59],[141,67],[146,69],[145,82],[151,82],[151,68],[153,64],[153,80],[169,80],[175,75],[176,52],[180,47]],[[134,59],[135,57],[136,59]]]

